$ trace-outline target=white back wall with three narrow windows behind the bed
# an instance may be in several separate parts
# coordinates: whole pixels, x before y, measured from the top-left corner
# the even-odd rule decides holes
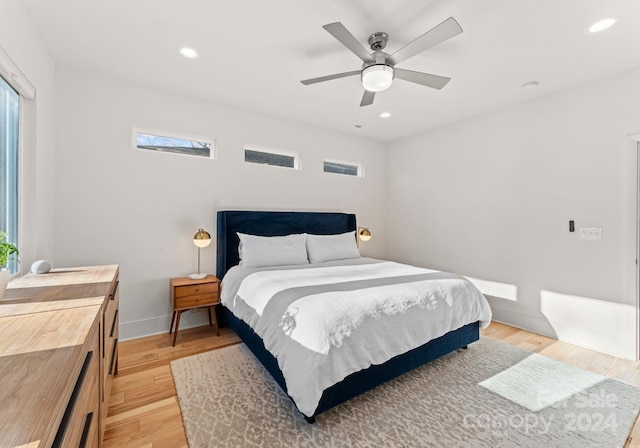
[[[168,331],[169,278],[195,272],[193,235],[215,238],[218,210],[353,212],[374,232],[364,254],[385,253],[381,143],[66,68],[56,93],[58,265],[120,264],[122,338]],[[133,126],[213,137],[218,158],[135,150]],[[245,164],[244,144],[297,151],[302,170]],[[366,175],[325,174],[324,157]],[[213,244],[202,270],[215,272]],[[204,313],[184,318],[186,328]]]

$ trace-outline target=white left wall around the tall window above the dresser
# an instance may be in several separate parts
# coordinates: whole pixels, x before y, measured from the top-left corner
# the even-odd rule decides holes
[[[55,64],[21,2],[0,0],[0,46],[37,89],[23,101],[20,269],[54,259]]]

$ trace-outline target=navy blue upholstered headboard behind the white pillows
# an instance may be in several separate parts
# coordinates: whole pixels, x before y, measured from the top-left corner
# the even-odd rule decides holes
[[[260,236],[292,233],[334,235],[356,230],[356,215],[322,212],[218,212],[216,276],[222,279],[240,261],[236,232]]]

